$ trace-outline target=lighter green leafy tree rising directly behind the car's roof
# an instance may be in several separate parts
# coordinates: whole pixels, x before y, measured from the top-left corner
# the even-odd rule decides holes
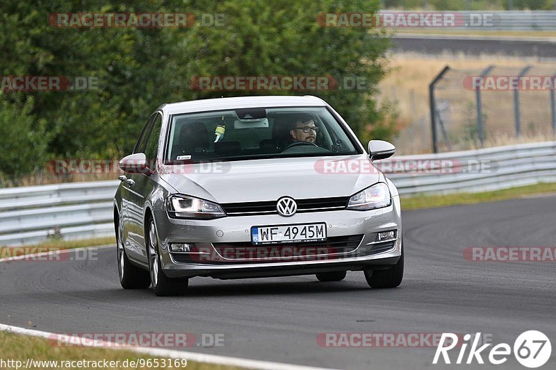
[[[389,38],[377,29],[323,27],[324,13],[377,12],[379,1],[243,0],[214,3],[199,12],[223,14],[226,26],[182,31],[193,51],[186,76],[332,76],[338,81],[359,78],[364,90],[270,94],[313,94],[325,99],[360,136],[373,127],[392,126],[375,102],[377,83],[386,72]],[[193,92],[193,99],[252,95],[256,92]],[[263,92],[269,94],[269,92]],[[370,129],[369,129],[370,128]]]

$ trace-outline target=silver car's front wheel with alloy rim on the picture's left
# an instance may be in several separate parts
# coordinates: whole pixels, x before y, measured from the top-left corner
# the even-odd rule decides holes
[[[157,296],[183,296],[186,294],[189,279],[168,278],[161,268],[161,256],[158,250],[158,237],[152,218],[147,219],[147,258],[149,259],[149,279]]]

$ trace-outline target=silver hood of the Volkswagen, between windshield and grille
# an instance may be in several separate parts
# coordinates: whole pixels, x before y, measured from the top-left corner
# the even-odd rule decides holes
[[[347,168],[349,163],[355,165]],[[167,171],[161,178],[176,192],[218,203],[271,201],[286,195],[294,199],[351,196],[381,178],[364,154],[168,166]]]

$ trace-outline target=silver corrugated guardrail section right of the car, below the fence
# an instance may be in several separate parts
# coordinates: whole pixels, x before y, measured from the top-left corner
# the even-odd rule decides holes
[[[486,192],[509,187],[556,182],[556,142],[498,146],[473,151],[406,155],[380,166],[395,169],[396,162],[440,162],[443,169],[388,173],[400,194]],[[407,167],[407,165],[405,166]]]

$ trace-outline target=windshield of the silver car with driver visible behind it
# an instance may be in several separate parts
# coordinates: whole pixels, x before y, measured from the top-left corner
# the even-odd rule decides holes
[[[173,115],[167,164],[357,154],[324,107],[246,108]]]

